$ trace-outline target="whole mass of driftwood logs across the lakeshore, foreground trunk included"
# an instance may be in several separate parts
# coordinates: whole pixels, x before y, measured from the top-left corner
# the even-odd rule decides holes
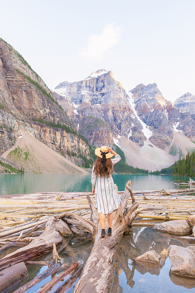
[[[48,292],[51,288],[56,288],[52,292],[65,292],[80,274],[73,292],[109,292],[114,276],[115,251],[124,233],[131,231],[133,225],[150,226],[159,221],[185,219],[195,212],[195,196],[188,195],[195,188],[135,191],[133,194],[131,185],[132,182],[129,181],[125,191],[119,192],[122,193],[122,203],[114,212],[113,235],[105,239],[100,238],[99,214],[94,207],[95,198],[91,193],[0,196],[0,252],[14,245],[22,246],[0,259],[1,292],[2,288],[16,286],[24,280],[27,276],[26,263],[45,264],[48,269],[15,293],[25,292],[57,271],[60,271],[59,275],[37,293]],[[180,195],[184,193],[186,195]],[[137,215],[139,217],[136,219]],[[94,244],[84,268],[79,266],[77,260],[70,268],[62,266],[57,251],[65,248],[67,250],[68,240],[63,236],[70,240],[89,235]],[[51,263],[34,261],[52,249],[54,260]],[[72,273],[64,282],[65,276]]]

